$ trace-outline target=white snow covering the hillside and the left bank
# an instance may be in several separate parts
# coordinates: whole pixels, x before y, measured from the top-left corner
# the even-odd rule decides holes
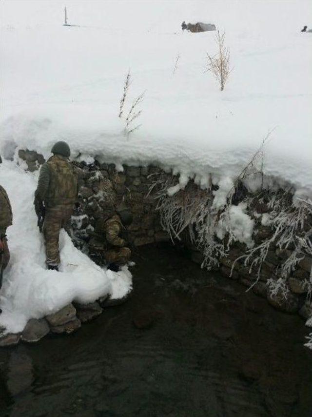
[[[263,159],[267,183],[291,183],[312,196],[312,34],[300,33],[312,21],[309,1],[67,1],[68,22],[79,27],[62,26],[63,6],[0,2],[2,159],[14,152],[16,158],[16,147],[47,157],[63,139],[74,157],[97,156],[118,169],[122,163],[171,168],[181,174],[181,187],[189,178],[206,187],[212,178],[221,185],[221,201],[228,193],[222,184],[232,187],[274,129]],[[225,30],[233,70],[223,92],[205,72],[215,33],[182,32],[183,20]],[[129,68],[125,115],[145,93],[133,124],[141,126],[126,135],[118,113]],[[19,331],[27,318],[72,299],[114,294],[115,284],[120,293],[129,288],[127,271],[109,275],[66,234],[61,280],[46,271],[32,207],[36,174],[4,161],[0,183],[14,211],[0,324]]]

